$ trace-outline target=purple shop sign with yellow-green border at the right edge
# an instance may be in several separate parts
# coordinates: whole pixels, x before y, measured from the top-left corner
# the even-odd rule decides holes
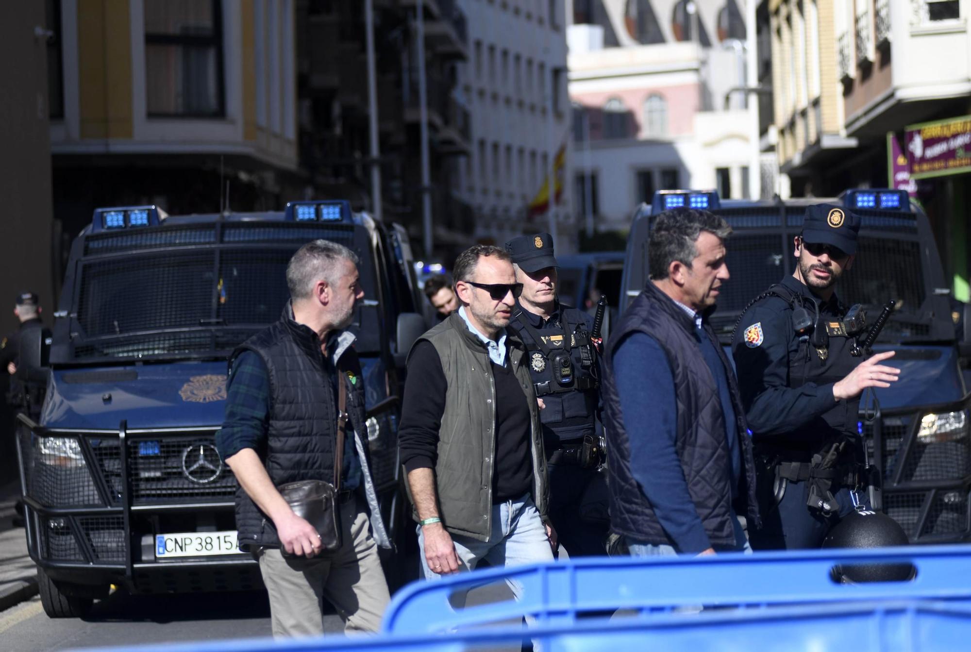
[[[971,172],[971,115],[905,128],[912,179]]]

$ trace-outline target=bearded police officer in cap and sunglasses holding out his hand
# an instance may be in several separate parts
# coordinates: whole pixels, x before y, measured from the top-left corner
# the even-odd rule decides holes
[[[841,207],[808,207],[793,239],[792,276],[758,296],[735,329],[735,367],[761,473],[764,525],[750,533],[755,549],[820,547],[854,502],[866,504],[860,394],[889,387],[899,370],[882,364],[893,351],[859,355],[860,320],[848,318],[834,293],[853,267],[859,223]]]

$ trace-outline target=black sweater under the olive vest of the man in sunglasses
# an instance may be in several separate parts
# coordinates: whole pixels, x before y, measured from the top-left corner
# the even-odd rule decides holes
[[[510,364],[509,356],[504,367],[492,363],[496,407],[493,503],[519,498],[533,484],[529,407]],[[435,468],[447,391],[448,382],[438,351],[431,342],[420,341],[408,361],[398,428],[401,463],[406,471]]]

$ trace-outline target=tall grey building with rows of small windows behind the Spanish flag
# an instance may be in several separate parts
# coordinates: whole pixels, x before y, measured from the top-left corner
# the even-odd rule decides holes
[[[552,231],[548,214],[527,221],[526,207],[548,174],[543,162],[552,162],[564,143],[569,146],[563,1],[458,4],[468,21],[470,56],[459,64],[459,82],[471,115],[472,154],[456,163],[461,182],[452,191],[475,209],[481,240],[503,244],[523,232]],[[553,207],[556,248],[569,252],[576,248],[570,237],[569,156],[562,176],[563,193]]]

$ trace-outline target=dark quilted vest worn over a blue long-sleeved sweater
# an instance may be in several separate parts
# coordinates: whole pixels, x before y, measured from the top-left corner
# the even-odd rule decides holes
[[[707,324],[705,328],[713,342],[718,342]],[[729,479],[728,444],[725,441],[724,416],[721,411],[718,385],[698,346],[696,329],[691,318],[670,298],[648,282],[641,295],[634,300],[611,333],[604,363],[607,373],[603,381],[603,401],[606,411],[607,456],[611,472],[610,513],[611,529],[630,538],[653,544],[674,542],[667,536],[651,503],[641,491],[630,471],[630,440],[623,426],[620,401],[614,378],[613,356],[624,336],[640,332],[658,342],[667,356],[674,375],[675,396],[678,402],[677,436],[675,446],[687,480],[687,491],[694,504],[708,538],[713,545],[733,545],[731,523],[731,486]],[[742,441],[742,463],[745,467],[745,490],[739,491],[740,511],[747,514],[750,527],[760,526],[755,502],[755,466],[752,440],[745,434],[745,410],[738,393],[735,375],[720,346],[721,363],[728,376],[732,404]],[[646,387],[645,392],[651,388]],[[650,425],[642,437],[650,437]]]

